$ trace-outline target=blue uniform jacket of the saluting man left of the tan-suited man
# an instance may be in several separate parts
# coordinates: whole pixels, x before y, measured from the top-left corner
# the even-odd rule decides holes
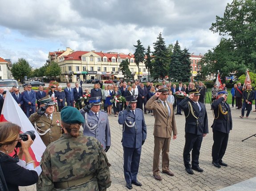
[[[133,124],[134,127],[128,127]],[[123,125],[122,145],[128,148],[140,148],[142,140],[146,140],[146,123],[141,109],[135,109],[135,116],[131,111],[123,110],[118,113],[118,123]]]

